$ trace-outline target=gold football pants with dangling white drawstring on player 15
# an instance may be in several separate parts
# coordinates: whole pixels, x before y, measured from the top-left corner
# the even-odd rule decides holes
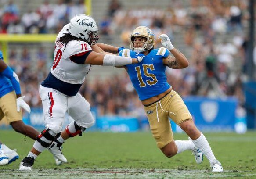
[[[162,148],[173,141],[173,132],[169,118],[177,125],[192,119],[184,101],[174,90],[150,106],[144,106],[144,110],[158,148]]]

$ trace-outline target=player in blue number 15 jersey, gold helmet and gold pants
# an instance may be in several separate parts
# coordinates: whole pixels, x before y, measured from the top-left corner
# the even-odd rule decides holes
[[[222,172],[223,168],[216,160],[206,137],[196,128],[184,101],[166,79],[166,67],[186,68],[188,60],[173,47],[166,34],[160,35],[159,39],[164,47],[154,49],[153,32],[148,27],[139,26],[133,30],[129,38],[130,49],[102,43],[97,43],[95,48],[101,53],[118,52],[119,56],[124,57],[144,56],[140,63],[128,64],[124,68],[144,105],[157,147],[169,158],[184,150],[192,150],[198,164],[202,162],[204,154],[210,162],[212,171]],[[169,118],[187,133],[189,140],[173,139]]]

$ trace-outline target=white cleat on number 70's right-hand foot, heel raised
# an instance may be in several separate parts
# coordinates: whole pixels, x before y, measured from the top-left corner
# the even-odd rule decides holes
[[[67,163],[68,160],[65,158],[65,156],[62,153],[62,143],[58,142],[58,140],[54,140],[50,146],[48,147],[48,149],[50,151],[50,153],[53,154],[53,156],[55,158],[57,158],[58,160]],[[57,165],[57,161],[55,160],[56,165]]]

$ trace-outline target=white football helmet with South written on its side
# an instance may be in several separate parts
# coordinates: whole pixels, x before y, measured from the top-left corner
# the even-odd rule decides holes
[[[85,40],[90,45],[97,43],[99,36],[97,36],[98,27],[94,18],[89,15],[76,15],[70,20],[69,33],[72,36]]]

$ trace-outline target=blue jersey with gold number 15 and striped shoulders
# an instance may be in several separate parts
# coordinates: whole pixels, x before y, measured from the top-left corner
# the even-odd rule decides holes
[[[119,56],[135,58],[136,52],[123,49]],[[162,59],[170,54],[166,48],[151,50],[144,59],[137,64],[126,65],[128,75],[136,89],[140,100],[155,97],[170,88],[166,79],[166,66]]]

